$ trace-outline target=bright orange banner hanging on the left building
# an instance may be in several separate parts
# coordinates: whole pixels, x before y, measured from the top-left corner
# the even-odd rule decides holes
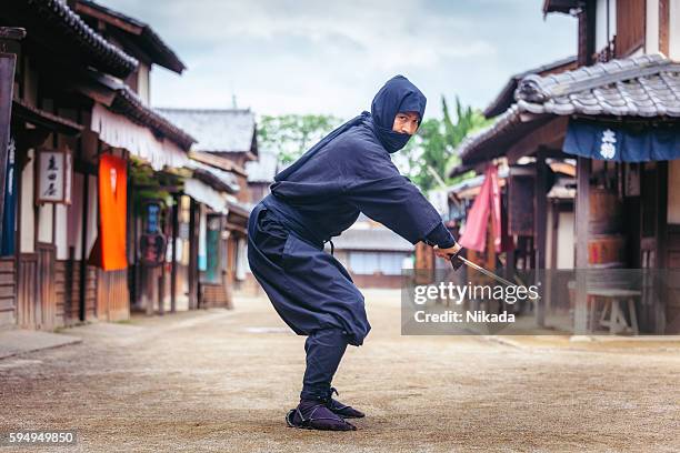
[[[128,171],[124,159],[110,154],[99,158],[99,236],[101,268],[126,269],[126,220]]]

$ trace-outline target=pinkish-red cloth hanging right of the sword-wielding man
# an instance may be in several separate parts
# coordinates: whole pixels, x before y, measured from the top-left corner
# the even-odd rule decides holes
[[[508,238],[507,231],[503,231],[503,228],[507,229],[507,222],[502,220],[501,193],[498,181],[498,168],[496,165],[487,167],[484,182],[468,213],[466,230],[458,241],[462,246],[478,252],[486,250],[489,214],[491,214],[493,248],[497,252],[509,250],[513,245],[512,241]]]

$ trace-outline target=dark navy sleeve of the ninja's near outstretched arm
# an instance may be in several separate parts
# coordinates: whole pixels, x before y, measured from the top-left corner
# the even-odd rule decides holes
[[[346,167],[344,198],[369,218],[416,244],[441,224],[441,217],[420,190],[399,173],[387,152],[382,152],[384,157],[366,153],[360,162]]]

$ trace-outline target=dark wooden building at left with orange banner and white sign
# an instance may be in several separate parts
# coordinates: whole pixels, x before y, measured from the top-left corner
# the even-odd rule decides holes
[[[133,165],[181,168],[193,142],[148,107],[150,66],[177,61],[130,39],[130,48],[146,49],[132,57],[121,49],[122,37],[113,44],[102,36],[118,33],[114,24],[124,28],[121,18],[99,10],[81,11],[83,19],[79,4],[97,9],[12,0],[0,11],[0,26],[26,32],[6,49],[14,71],[0,80],[12,88],[2,173],[14,187],[3,203],[2,269],[16,289],[0,309],[0,323],[10,326],[129,316],[137,248],[128,177]],[[144,30],[139,34],[150,33]],[[159,44],[158,37],[150,41]]]

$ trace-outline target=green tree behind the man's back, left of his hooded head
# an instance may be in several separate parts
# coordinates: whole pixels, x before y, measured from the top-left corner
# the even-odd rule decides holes
[[[258,125],[259,143],[287,164],[340,124],[340,119],[324,114],[264,115]]]

